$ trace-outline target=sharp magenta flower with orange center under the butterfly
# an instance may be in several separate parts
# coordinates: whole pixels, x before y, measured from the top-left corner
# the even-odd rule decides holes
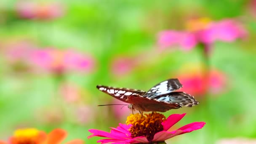
[[[164,142],[174,136],[189,133],[200,128],[203,128],[205,122],[194,122],[183,127],[170,131],[170,128],[179,122],[186,114],[173,114],[167,119],[165,116],[154,112],[153,114],[130,115],[127,117],[127,125],[119,124],[117,128],[112,128],[110,133],[91,129],[89,132],[93,133],[88,136],[90,139],[93,136],[105,137],[97,142],[101,144],[112,142],[112,144],[134,144],[134,143],[149,143],[149,142]]]

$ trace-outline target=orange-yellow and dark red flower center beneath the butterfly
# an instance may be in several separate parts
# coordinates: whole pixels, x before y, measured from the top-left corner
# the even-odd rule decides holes
[[[140,114],[130,115],[127,117],[126,124],[132,124],[129,129],[132,138],[145,136],[148,141],[152,141],[155,133],[163,131],[161,123],[164,120],[166,120],[164,115],[153,112],[153,114],[144,114],[142,117]]]

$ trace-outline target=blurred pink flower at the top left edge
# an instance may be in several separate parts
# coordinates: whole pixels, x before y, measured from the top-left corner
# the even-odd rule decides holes
[[[16,8],[18,15],[24,19],[55,19],[64,14],[64,7],[60,3],[19,1]]]

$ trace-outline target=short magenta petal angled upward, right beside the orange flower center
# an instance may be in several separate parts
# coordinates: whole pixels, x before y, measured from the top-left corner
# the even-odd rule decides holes
[[[163,123],[163,131],[167,131],[169,128],[171,128],[174,124],[176,124],[177,122],[179,122],[184,116],[186,115],[186,113],[184,114],[173,114],[170,115]]]

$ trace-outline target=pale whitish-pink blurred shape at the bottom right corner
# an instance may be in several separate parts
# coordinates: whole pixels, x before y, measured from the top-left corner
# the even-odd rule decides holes
[[[233,139],[221,139],[216,144],[256,144],[256,139],[247,138],[233,138]]]

